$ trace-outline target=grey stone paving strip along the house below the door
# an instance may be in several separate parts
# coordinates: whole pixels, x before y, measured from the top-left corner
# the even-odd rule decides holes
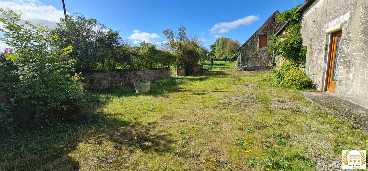
[[[300,92],[309,101],[329,111],[343,112],[344,116],[353,116],[353,126],[359,128],[368,135],[368,109],[343,100],[329,92]]]

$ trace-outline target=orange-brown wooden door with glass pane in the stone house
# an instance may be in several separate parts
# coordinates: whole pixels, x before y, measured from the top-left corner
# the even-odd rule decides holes
[[[327,91],[335,93],[337,72],[340,64],[341,31],[331,34],[330,55],[328,62]]]

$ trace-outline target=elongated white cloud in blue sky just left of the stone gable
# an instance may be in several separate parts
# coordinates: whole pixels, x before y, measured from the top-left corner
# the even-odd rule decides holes
[[[259,20],[258,16],[245,16],[232,22],[216,23],[209,31],[211,33],[227,33],[230,29],[237,29],[240,25],[250,25],[252,22]]]

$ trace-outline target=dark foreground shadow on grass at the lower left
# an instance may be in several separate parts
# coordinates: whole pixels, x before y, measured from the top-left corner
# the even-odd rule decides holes
[[[54,127],[18,133],[0,145],[0,170],[79,170],[80,164],[69,154],[80,145],[100,145],[99,142],[106,141],[116,144],[116,150],[129,149],[130,153],[135,148],[153,150],[158,155],[170,152],[173,138],[151,133],[156,122],[120,120],[114,115],[95,113]],[[91,157],[88,160],[95,160],[96,156]],[[102,158],[99,162],[106,160]]]

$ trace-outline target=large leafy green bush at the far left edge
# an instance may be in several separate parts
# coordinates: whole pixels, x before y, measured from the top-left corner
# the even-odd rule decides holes
[[[0,132],[32,129],[78,116],[86,104],[74,74],[72,47],[57,49],[57,36],[42,25],[19,24],[21,15],[0,9],[3,40],[14,54],[0,60]],[[72,75],[71,75],[72,74]]]

